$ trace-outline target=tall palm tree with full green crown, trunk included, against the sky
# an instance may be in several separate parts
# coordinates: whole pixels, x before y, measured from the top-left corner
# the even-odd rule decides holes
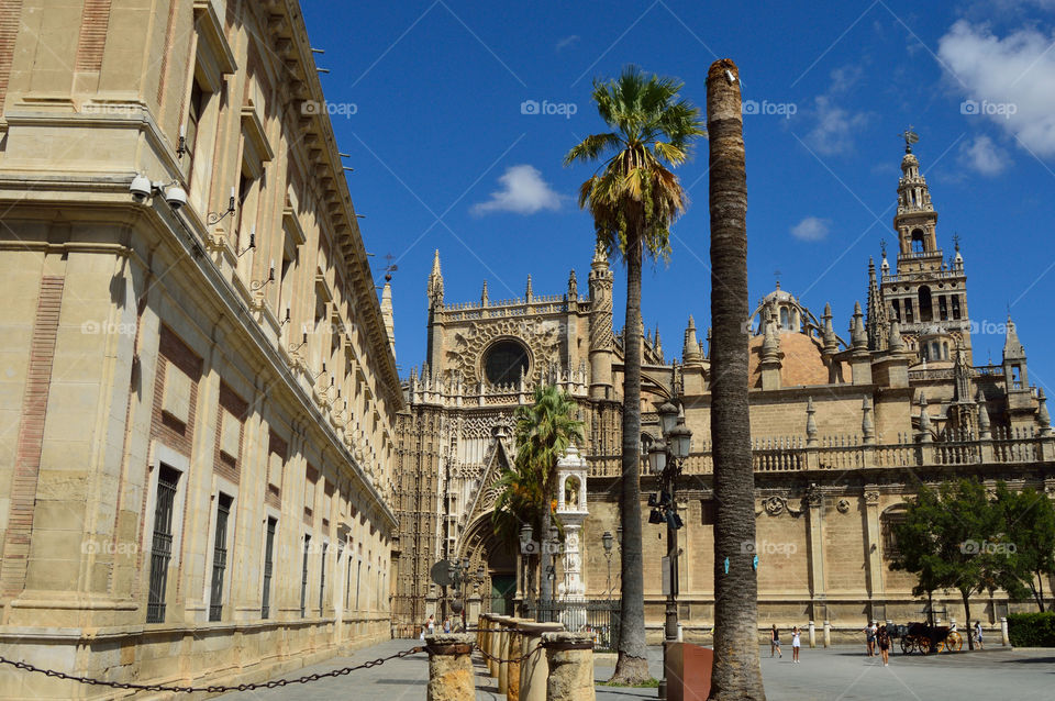
[[[641,543],[641,264],[645,251],[667,258],[670,224],[688,198],[668,170],[688,158],[703,134],[699,108],[678,99],[682,84],[647,77],[628,66],[609,82],[593,81],[593,101],[612,131],[591,134],[564,164],[602,162],[579,189],[579,207],[593,216],[597,242],[626,263],[626,325],[623,329],[623,453],[620,518],[623,526],[622,610],[613,681],[649,678],[645,658],[645,599]]]

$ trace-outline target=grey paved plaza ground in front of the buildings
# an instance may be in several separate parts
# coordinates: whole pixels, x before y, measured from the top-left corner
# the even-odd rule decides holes
[[[418,645],[418,641],[389,641],[322,665],[307,667],[288,678],[355,665],[386,657]],[[649,648],[654,676],[660,671],[660,652]],[[504,701],[496,682],[485,676],[478,656],[476,669],[477,699]],[[864,699],[914,699],[918,701],[965,701],[971,699],[1009,699],[1032,701],[1055,699],[1055,649],[1003,649],[959,653],[936,657],[897,655],[889,667],[878,657],[864,655],[859,647],[806,648],[802,661],[791,664],[790,652],[784,658],[769,658],[763,650],[762,672],[769,701],[853,701]],[[598,680],[611,675],[610,667],[598,666]],[[346,677],[323,679],[306,685],[255,692],[232,693],[226,701],[290,700],[324,701],[401,701],[424,699],[429,663],[424,654],[393,659],[381,666],[352,672]],[[599,701],[637,701],[655,699],[655,689],[597,687]]]

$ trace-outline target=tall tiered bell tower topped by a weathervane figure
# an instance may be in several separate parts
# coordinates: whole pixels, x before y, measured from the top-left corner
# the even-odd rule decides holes
[[[904,157],[898,180],[898,211],[893,215],[893,230],[898,235],[897,270],[890,272],[886,251],[880,266],[886,319],[898,322],[915,363],[952,366],[959,348],[969,365],[967,276],[958,237],[954,237],[956,254],[946,262],[937,245],[937,212],[926,178],[920,175],[920,160],[912,153],[912,145],[920,137],[911,130],[902,136]]]

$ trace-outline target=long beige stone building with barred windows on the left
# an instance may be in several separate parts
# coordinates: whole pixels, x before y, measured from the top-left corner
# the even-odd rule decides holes
[[[403,396],[325,104],[291,0],[0,8],[0,655],[231,683],[389,636]]]

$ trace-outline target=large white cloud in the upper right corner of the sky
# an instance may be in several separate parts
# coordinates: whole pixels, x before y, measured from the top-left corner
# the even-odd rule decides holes
[[[1055,36],[1026,27],[1004,37],[956,22],[937,54],[966,98],[965,116],[989,119],[1041,157],[1055,156]]]

